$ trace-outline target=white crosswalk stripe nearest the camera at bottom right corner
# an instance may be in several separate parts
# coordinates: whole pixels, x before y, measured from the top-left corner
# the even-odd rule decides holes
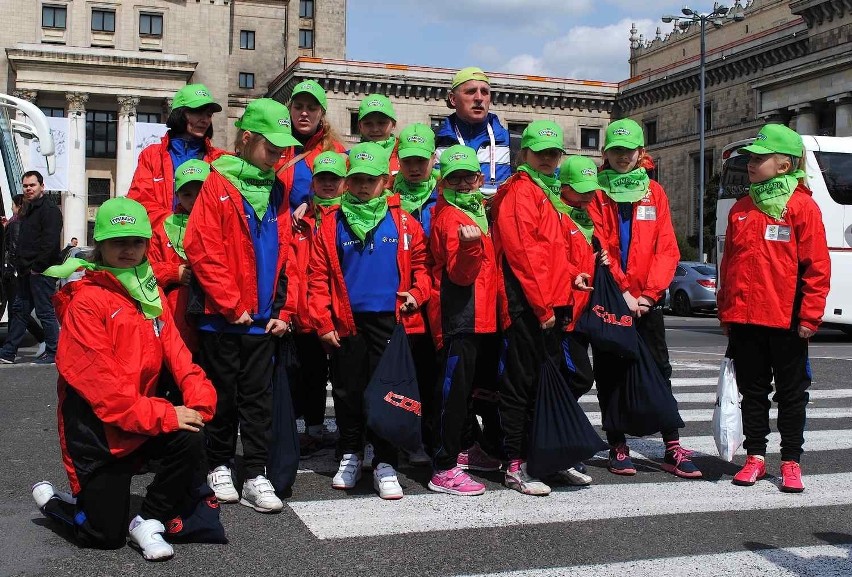
[[[731,575],[772,575],[799,577],[801,575],[852,574],[852,545],[816,545],[786,549],[760,549],[643,559],[606,565],[575,565],[525,571],[488,573],[492,577],[611,577],[612,575],[701,575],[701,577],[730,577]],[[459,576],[459,577],[485,577]]]

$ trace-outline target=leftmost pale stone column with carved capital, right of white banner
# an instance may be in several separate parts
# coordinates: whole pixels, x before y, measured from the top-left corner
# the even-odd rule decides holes
[[[71,237],[88,239],[89,190],[86,187],[86,102],[85,92],[67,92],[69,142],[68,142],[68,190],[62,202],[63,227],[62,245]]]

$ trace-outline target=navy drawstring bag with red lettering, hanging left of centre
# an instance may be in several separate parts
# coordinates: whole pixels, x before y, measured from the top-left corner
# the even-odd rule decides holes
[[[401,324],[364,391],[367,426],[398,449],[415,452],[421,447],[420,391],[408,335]]]

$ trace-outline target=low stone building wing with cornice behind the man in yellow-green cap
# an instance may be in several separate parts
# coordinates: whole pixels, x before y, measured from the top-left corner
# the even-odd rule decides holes
[[[452,113],[446,98],[455,69],[302,57],[269,85],[269,95],[287,102],[293,87],[317,80],[328,92],[329,121],[347,143],[358,141],[358,105],[372,93],[388,96],[397,113],[397,132],[422,122],[437,128]],[[533,120],[551,119],[565,132],[571,154],[600,156],[618,86],[614,83],[488,72],[491,112],[512,133]]]

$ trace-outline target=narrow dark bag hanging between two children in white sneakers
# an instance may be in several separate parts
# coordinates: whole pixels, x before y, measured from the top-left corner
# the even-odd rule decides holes
[[[276,493],[284,495],[296,482],[299,470],[299,432],[287,378],[287,369],[294,356],[292,338],[279,339],[272,372],[272,438],[266,473]]]

